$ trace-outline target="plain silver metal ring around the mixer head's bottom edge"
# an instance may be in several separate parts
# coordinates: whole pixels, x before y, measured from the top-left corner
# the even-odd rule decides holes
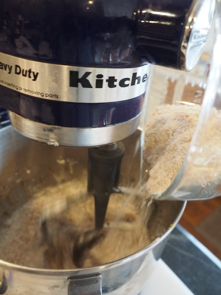
[[[70,128],[38,123],[9,112],[12,126],[22,135],[52,146],[97,147],[120,141],[138,128],[140,115],[122,124],[96,128]]]

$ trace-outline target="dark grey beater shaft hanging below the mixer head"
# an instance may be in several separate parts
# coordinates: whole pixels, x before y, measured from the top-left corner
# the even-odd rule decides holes
[[[89,148],[88,193],[95,197],[95,229],[103,227],[109,197],[118,191],[124,150],[122,143]]]

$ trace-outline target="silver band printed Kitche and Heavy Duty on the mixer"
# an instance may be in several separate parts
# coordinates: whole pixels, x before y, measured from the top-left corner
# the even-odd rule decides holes
[[[145,93],[150,65],[133,68],[64,66],[0,52],[0,85],[36,98],[113,102]]]

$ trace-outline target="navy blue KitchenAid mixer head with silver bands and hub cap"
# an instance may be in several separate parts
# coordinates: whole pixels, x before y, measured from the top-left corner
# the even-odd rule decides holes
[[[150,64],[190,70],[214,0],[0,0],[0,106],[32,139],[99,146],[140,120]]]

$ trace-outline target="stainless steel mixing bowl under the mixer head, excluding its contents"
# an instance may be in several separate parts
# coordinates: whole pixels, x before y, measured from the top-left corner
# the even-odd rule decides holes
[[[122,186],[128,183],[135,186],[138,182],[140,153],[135,151],[139,136],[140,131],[137,131],[124,141]],[[61,165],[58,159],[77,161],[77,168],[71,171],[70,161]],[[33,193],[55,184],[54,175],[59,175],[61,170],[65,180],[71,180],[86,167],[87,148],[51,147],[22,137],[11,126],[0,130],[0,226]],[[146,225],[153,242],[128,257],[96,267],[36,269],[6,262],[0,253],[0,294],[137,295],[153,271],[184,208],[182,201],[158,201]]]

